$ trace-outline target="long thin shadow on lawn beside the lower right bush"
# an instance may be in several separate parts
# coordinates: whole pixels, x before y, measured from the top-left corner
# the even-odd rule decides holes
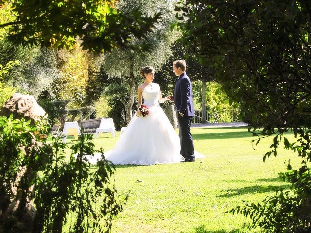
[[[218,195],[217,197],[233,197],[237,195],[243,195],[247,193],[267,193],[274,191],[276,189],[288,189],[290,188],[290,184],[284,184],[279,186],[248,186],[243,188],[234,188],[234,189],[227,189],[225,190],[225,194]]]

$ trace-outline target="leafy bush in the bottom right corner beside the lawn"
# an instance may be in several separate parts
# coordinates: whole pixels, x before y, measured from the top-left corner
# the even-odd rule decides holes
[[[274,233],[307,233],[311,231],[311,171],[305,165],[299,171],[279,173],[283,181],[291,182],[291,190],[277,189],[275,196],[262,203],[244,202],[227,213],[248,216],[252,222],[248,228],[257,226]]]

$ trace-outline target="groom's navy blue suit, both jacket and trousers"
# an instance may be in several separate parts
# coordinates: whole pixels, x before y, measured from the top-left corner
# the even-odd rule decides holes
[[[177,119],[180,138],[180,154],[189,160],[194,159],[194,147],[191,134],[191,121],[194,116],[192,85],[186,73],[182,73],[175,86],[174,103],[177,108]],[[180,116],[179,113],[184,114]]]

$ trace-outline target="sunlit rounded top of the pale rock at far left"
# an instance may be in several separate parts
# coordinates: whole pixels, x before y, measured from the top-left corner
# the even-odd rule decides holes
[[[24,117],[27,120],[32,120],[32,122],[39,120],[42,116],[47,117],[47,113],[33,96],[20,93],[14,93],[0,109],[0,116],[9,117],[11,113],[14,118],[20,119]]]

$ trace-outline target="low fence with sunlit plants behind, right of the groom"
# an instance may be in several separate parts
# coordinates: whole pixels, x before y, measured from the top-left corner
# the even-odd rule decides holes
[[[202,110],[194,110],[192,123],[202,123]],[[210,123],[239,122],[239,109],[206,110],[206,120]]]

